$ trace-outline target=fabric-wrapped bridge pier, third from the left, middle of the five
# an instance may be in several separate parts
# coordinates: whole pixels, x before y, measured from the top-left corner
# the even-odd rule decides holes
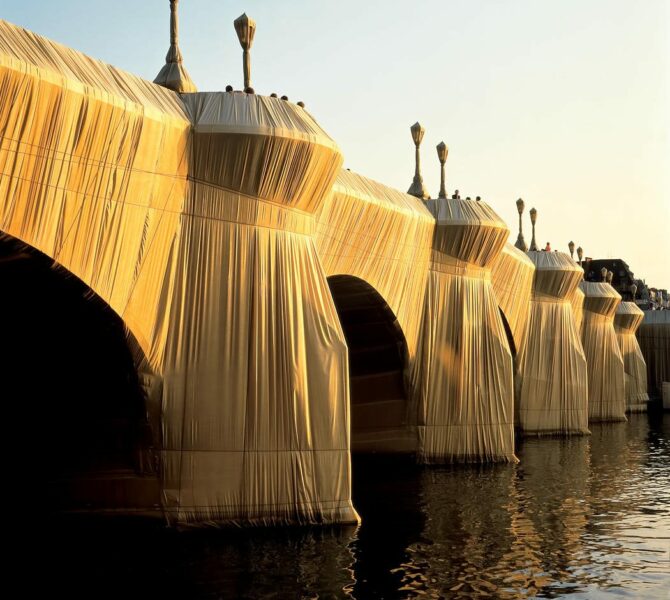
[[[583,271],[567,254],[535,265],[528,334],[516,358],[516,422],[524,433],[588,433],[586,358],[570,299]]]

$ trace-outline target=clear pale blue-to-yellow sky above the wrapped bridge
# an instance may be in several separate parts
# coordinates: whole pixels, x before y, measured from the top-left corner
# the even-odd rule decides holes
[[[623,258],[670,288],[670,0],[181,0],[201,91],[242,87],[232,21],[257,22],[257,93],[303,100],[345,166],[407,190],[409,127],[424,180],[482,196],[516,237]],[[168,48],[168,0],[2,0],[0,18],[147,79]],[[526,214],[527,241],[530,241]]]

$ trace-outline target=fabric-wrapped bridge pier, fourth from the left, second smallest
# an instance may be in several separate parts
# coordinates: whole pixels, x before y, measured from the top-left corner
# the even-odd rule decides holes
[[[625,421],[624,365],[614,331],[621,296],[609,283],[582,281],[582,343],[589,372],[589,421]]]

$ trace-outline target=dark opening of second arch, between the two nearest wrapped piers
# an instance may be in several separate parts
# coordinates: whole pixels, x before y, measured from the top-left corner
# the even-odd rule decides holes
[[[413,452],[407,427],[408,351],[393,310],[369,283],[328,277],[349,349],[351,447],[354,452]]]

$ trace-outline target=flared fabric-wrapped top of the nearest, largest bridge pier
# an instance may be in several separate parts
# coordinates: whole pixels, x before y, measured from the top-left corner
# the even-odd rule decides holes
[[[342,156],[304,108],[243,92],[182,101],[192,123],[189,179],[308,215],[318,210]]]

